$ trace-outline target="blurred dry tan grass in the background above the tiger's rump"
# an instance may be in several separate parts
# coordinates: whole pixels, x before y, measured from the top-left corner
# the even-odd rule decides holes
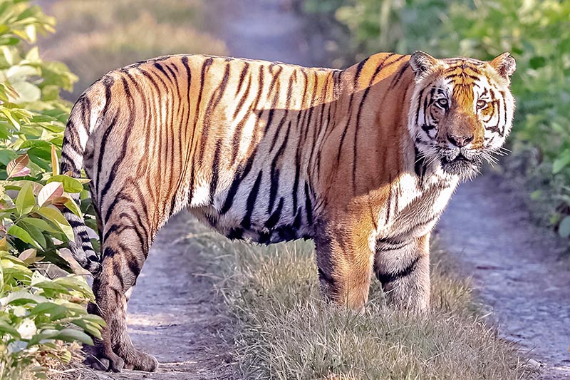
[[[222,41],[202,33],[202,0],[60,0],[48,11],[58,20],[43,40],[46,59],[63,61],[79,78],[74,101],[114,68],[176,53],[223,55]]]

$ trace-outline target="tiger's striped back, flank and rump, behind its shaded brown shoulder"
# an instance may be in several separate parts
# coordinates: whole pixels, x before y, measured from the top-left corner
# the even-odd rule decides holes
[[[126,191],[150,195],[144,216],[153,229],[189,206],[229,237],[307,235],[310,153],[325,131],[313,125],[331,118],[338,81],[335,70],[209,56],[108,73],[72,113],[94,117],[85,103],[104,99],[104,120],[88,121],[83,163],[103,220],[123,212],[113,205]],[[116,138],[116,130],[128,132]]]

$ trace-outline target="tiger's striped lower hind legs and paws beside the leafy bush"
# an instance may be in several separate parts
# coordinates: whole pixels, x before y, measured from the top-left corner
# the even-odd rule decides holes
[[[119,203],[103,225],[102,271],[93,280],[96,305],[93,305],[92,312],[107,323],[102,339],[95,342],[93,356],[102,366],[105,359],[108,360],[111,371],[120,371],[123,367],[155,371],[157,360],[135,349],[126,323],[128,296],[135,286],[154,235],[149,227],[141,224],[143,218],[136,215],[135,205],[127,201]]]

